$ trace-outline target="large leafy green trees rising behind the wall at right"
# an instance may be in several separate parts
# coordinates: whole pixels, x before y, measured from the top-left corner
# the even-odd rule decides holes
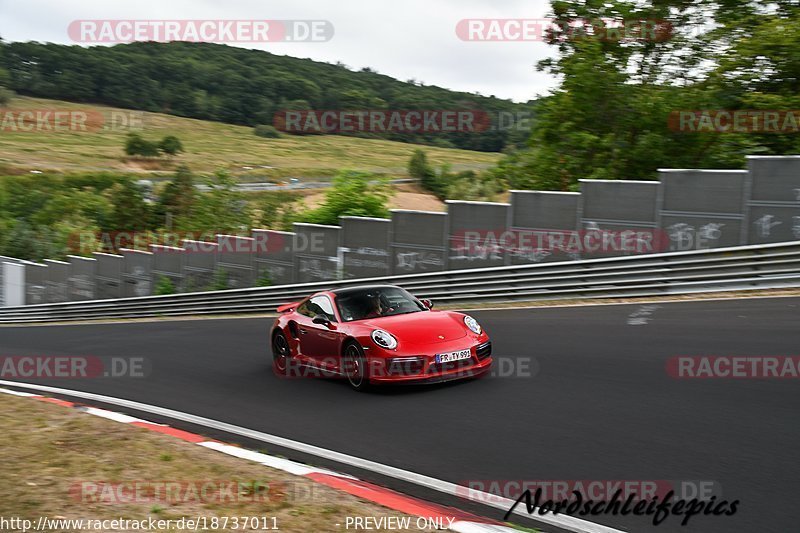
[[[581,178],[655,179],[660,167],[743,168],[746,154],[800,148],[797,135],[669,127],[679,110],[796,109],[796,2],[558,0],[551,6],[558,27],[581,31],[548,35],[557,57],[538,66],[561,82],[537,103],[527,146],[492,171],[511,186],[567,191]],[[620,20],[664,23],[655,33],[612,38],[610,21]]]

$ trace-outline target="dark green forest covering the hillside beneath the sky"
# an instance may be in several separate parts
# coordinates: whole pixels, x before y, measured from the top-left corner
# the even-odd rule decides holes
[[[531,105],[400,81],[369,68],[220,44],[139,42],[105,47],[0,41],[0,85],[18,94],[169,113],[247,126],[309,110],[469,110],[499,117]],[[3,79],[5,78],[5,79]],[[527,129],[380,131],[351,135],[499,152]]]

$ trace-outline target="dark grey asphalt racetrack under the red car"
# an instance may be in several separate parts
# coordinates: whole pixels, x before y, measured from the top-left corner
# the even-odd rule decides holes
[[[265,318],[3,327],[0,356],[143,357],[144,378],[22,381],[176,409],[456,483],[704,480],[720,499],[740,502],[734,516],[695,516],[683,527],[678,517],[657,527],[648,517],[583,517],[625,531],[800,531],[800,380],[667,371],[675,356],[799,355],[800,298],[470,314],[492,336],[495,375],[366,394],[338,380],[277,378]]]

